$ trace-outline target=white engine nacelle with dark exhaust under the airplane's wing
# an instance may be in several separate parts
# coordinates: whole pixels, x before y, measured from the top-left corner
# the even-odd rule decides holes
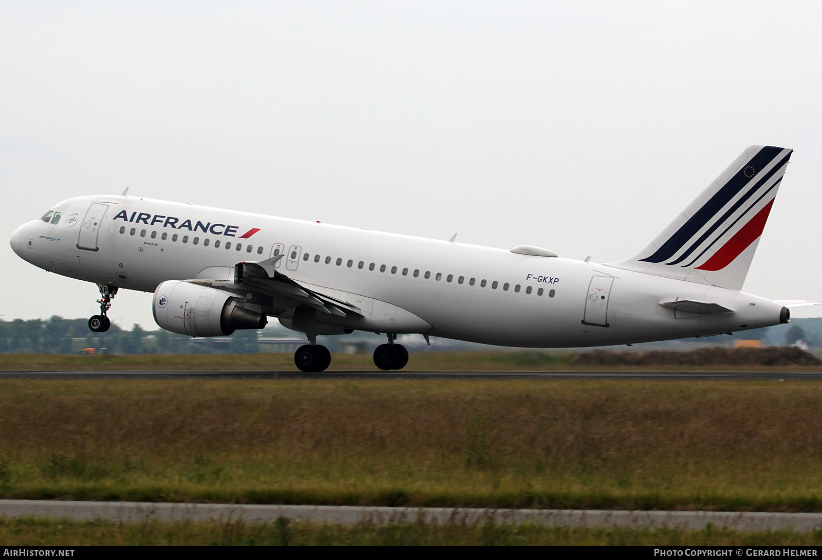
[[[161,328],[190,337],[224,337],[242,328],[263,328],[265,314],[238,305],[228,291],[168,280],[155,290],[152,305]]]

